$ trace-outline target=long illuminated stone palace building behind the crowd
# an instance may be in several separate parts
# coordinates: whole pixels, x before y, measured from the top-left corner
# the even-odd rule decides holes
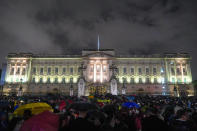
[[[119,56],[112,49],[44,56],[9,54],[3,93],[193,95],[188,54]]]

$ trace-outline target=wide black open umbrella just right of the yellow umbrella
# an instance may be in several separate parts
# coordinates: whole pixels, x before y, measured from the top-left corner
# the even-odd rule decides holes
[[[87,111],[98,109],[96,104],[86,103],[86,102],[76,102],[70,105],[69,109],[75,109],[78,111]]]

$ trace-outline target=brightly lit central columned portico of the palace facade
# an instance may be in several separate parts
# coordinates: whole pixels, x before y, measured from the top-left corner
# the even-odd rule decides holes
[[[81,79],[84,80],[84,92],[81,95],[105,94],[109,93],[109,82],[113,75],[112,60],[114,59],[114,50],[83,50],[83,69]],[[80,80],[79,80],[80,81]],[[82,81],[82,80],[81,80]],[[80,91],[80,84],[78,84]],[[82,84],[81,84],[82,85]],[[81,96],[79,95],[79,96]]]

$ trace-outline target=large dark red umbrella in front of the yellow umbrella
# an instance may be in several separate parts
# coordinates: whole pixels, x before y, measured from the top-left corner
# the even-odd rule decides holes
[[[59,116],[45,111],[26,120],[20,131],[58,131]]]

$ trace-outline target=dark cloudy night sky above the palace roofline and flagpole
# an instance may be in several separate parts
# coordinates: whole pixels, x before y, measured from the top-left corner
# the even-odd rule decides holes
[[[0,63],[8,53],[188,52],[197,79],[197,0],[0,0]]]

